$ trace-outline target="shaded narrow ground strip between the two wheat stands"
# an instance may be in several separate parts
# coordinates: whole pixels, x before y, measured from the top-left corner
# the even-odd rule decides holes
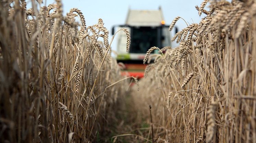
[[[112,123],[109,123],[109,128],[101,138],[111,143],[147,142],[145,137],[148,137],[150,124],[147,124],[146,119],[142,119],[138,110],[133,108],[132,96],[126,96],[124,101],[120,102],[124,104],[116,109],[118,111]],[[148,142],[152,141],[148,140]]]

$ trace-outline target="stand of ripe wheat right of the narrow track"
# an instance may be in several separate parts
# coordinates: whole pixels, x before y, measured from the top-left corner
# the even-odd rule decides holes
[[[175,35],[180,45],[163,48],[166,61],[148,65],[134,91],[137,114],[148,124],[152,106],[156,142],[256,140],[256,2],[212,0],[206,11],[208,1],[196,6],[201,22]]]

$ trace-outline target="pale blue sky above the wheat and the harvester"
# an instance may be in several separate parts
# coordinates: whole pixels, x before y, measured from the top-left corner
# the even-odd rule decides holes
[[[85,17],[86,26],[97,24],[102,18],[104,26],[109,30],[113,25],[123,25],[129,9],[157,10],[161,6],[166,25],[170,25],[176,16],[186,20],[188,24],[199,23],[202,18],[198,15],[195,6],[200,6],[203,0],[62,0],[63,15],[71,8],[78,8]],[[55,3],[55,0],[44,0],[43,5]],[[28,1],[28,6],[30,5]],[[187,27],[180,19],[176,26],[179,30]],[[110,32],[111,34],[111,32]],[[174,32],[171,33],[171,36]],[[109,35],[109,40],[112,35]],[[112,43],[113,50],[116,49],[117,38]]]

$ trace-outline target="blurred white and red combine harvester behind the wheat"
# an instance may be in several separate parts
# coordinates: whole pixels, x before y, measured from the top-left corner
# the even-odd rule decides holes
[[[125,69],[122,74],[141,78],[144,75],[143,58],[152,46],[162,48],[171,46],[171,34],[165,25],[161,7],[159,10],[130,10],[125,25],[114,26],[115,29],[126,28],[131,34],[131,47],[126,52],[126,34],[120,32],[117,38],[117,62],[122,62]],[[156,51],[154,51],[157,53]]]

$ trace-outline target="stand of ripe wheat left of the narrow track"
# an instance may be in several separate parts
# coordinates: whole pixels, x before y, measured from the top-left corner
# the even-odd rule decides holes
[[[103,20],[86,27],[77,8],[31,2],[0,2],[0,142],[107,141],[132,77],[108,53]]]

